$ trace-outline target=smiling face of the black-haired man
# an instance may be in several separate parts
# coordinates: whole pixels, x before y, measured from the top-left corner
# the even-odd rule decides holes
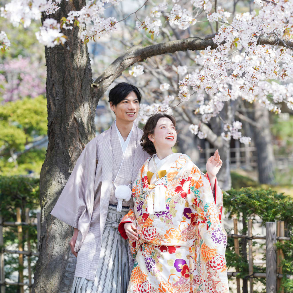
[[[133,122],[136,119],[139,110],[138,98],[132,91],[116,106],[110,103],[110,108],[115,112],[116,120]]]

